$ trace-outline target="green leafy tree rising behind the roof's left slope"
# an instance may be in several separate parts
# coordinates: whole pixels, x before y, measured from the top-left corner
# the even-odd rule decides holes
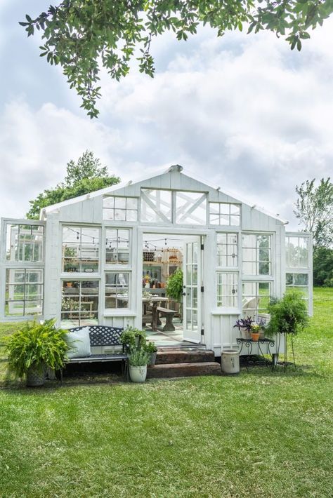
[[[67,175],[62,183],[54,189],[46,189],[30,201],[30,210],[27,218],[39,219],[41,209],[52,206],[67,199],[89,194],[96,190],[110,187],[119,183],[119,177],[109,175],[107,167],[100,167],[100,160],[93,156],[93,152],[86,151],[77,160],[77,163],[67,163]]]

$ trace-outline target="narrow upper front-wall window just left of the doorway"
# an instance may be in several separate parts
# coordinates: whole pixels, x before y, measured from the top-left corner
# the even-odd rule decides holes
[[[129,264],[129,230],[105,230],[106,264]]]

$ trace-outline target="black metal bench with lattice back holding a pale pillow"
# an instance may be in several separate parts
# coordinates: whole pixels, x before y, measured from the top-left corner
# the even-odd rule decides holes
[[[77,332],[82,327],[70,328],[70,332]],[[100,353],[91,354],[91,356],[82,356],[81,358],[70,358],[67,364],[72,363],[99,363],[107,361],[121,361],[123,368],[122,372],[126,373],[127,380],[129,379],[129,357],[124,352],[124,344],[120,342],[123,328],[109,327],[107,325],[89,325],[90,345],[93,346],[122,346],[122,351],[119,353]],[[63,385],[63,370],[60,370],[60,383]]]

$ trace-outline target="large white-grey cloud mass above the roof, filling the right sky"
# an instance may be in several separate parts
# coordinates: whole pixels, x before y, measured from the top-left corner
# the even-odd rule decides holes
[[[207,30],[155,79],[105,80],[103,116],[148,131],[163,161],[178,154],[185,169],[290,218],[295,185],[332,170],[332,21],[301,53],[268,32],[217,39]],[[146,150],[138,144],[141,161]]]

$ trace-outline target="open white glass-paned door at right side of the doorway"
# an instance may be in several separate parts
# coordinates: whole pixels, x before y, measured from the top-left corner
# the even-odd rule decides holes
[[[183,255],[183,338],[199,343],[202,328],[202,251],[200,236],[187,237]]]

